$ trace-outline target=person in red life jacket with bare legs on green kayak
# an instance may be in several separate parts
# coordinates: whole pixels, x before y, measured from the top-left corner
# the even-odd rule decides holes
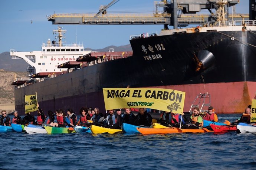
[[[57,113],[58,113],[58,115],[57,115],[57,122],[50,123],[51,126],[53,126],[53,127],[61,127],[61,128],[66,128],[66,126],[74,127],[74,125],[72,123],[70,123],[70,120],[66,116],[64,110],[59,109],[57,111]]]

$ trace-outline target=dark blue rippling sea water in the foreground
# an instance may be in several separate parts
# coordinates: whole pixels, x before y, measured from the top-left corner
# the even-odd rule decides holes
[[[241,116],[218,114],[219,122]],[[256,133],[0,133],[0,169],[256,169]]]

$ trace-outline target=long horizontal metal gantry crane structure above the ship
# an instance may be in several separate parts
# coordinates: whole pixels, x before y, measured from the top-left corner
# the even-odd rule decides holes
[[[52,24],[162,24],[168,26],[186,27],[189,24],[213,25],[217,21],[219,3],[226,3],[227,20],[249,20],[249,14],[230,14],[229,7],[239,3],[239,0],[161,0],[155,1],[155,12],[152,14],[109,14],[107,9],[119,0],[113,0],[106,6],[101,6],[96,14],[53,14],[48,17]],[[158,8],[162,7],[160,13]],[[202,9],[210,14],[197,14]],[[216,12],[216,13],[214,13]]]

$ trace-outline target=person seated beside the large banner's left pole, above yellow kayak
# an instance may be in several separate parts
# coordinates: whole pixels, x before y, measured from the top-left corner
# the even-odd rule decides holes
[[[113,109],[108,110],[108,116],[106,117],[105,122],[106,122],[107,128],[120,129],[120,124],[121,124],[120,116],[114,113]]]

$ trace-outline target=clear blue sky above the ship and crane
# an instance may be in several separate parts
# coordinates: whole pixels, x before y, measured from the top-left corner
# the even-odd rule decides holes
[[[0,0],[0,53],[40,51],[48,38],[55,39],[53,25],[47,16],[54,13],[98,13],[99,6],[112,0]],[[153,13],[154,0],[119,0],[108,9]],[[249,0],[240,0],[236,13],[249,13]],[[33,23],[30,23],[30,20]],[[160,33],[163,25],[60,25],[66,31],[66,44],[83,43],[84,48],[99,49],[109,45],[127,45],[130,35]]]

